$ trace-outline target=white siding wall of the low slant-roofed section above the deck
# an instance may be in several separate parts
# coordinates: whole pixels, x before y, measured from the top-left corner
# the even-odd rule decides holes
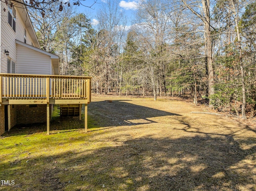
[[[50,56],[17,44],[16,73],[49,75]]]

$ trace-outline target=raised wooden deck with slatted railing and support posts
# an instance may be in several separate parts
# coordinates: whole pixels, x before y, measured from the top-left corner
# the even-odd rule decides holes
[[[91,101],[92,77],[0,73],[0,104],[47,104],[47,134],[50,104],[87,104]]]

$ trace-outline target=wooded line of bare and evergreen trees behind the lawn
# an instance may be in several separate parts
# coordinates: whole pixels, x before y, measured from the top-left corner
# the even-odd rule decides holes
[[[30,10],[63,75],[92,76],[98,94],[192,96],[246,119],[256,111],[255,0],[145,0],[127,26],[106,0],[98,25],[59,4]],[[56,8],[54,8],[56,6]]]

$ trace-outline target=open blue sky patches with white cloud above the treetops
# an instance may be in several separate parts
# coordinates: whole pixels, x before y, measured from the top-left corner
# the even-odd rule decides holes
[[[118,0],[120,9],[124,12],[125,16],[128,20],[128,25],[131,25],[131,21],[134,16],[134,11],[137,9],[138,2],[140,0]],[[84,0],[81,1],[85,6],[91,6],[94,4],[94,0]],[[90,14],[89,18],[92,19],[92,24],[97,24],[96,14],[101,4],[105,3],[106,0],[97,0],[96,3],[92,6],[92,8],[87,8],[84,6],[76,6],[78,12],[82,12]]]

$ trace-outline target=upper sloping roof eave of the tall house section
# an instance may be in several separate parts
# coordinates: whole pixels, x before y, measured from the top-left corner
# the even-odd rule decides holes
[[[24,2],[23,0],[17,0],[17,1]],[[32,25],[30,17],[28,16],[28,11],[27,11],[26,7],[24,5],[22,5],[22,6],[19,5],[19,6],[16,6],[16,10],[18,10],[18,12],[20,13],[21,19],[26,26],[26,30],[28,31],[28,33],[30,34],[30,36],[32,38],[32,42],[33,42],[34,46],[40,47],[39,41],[36,37],[36,32],[34,30],[34,27]]]

